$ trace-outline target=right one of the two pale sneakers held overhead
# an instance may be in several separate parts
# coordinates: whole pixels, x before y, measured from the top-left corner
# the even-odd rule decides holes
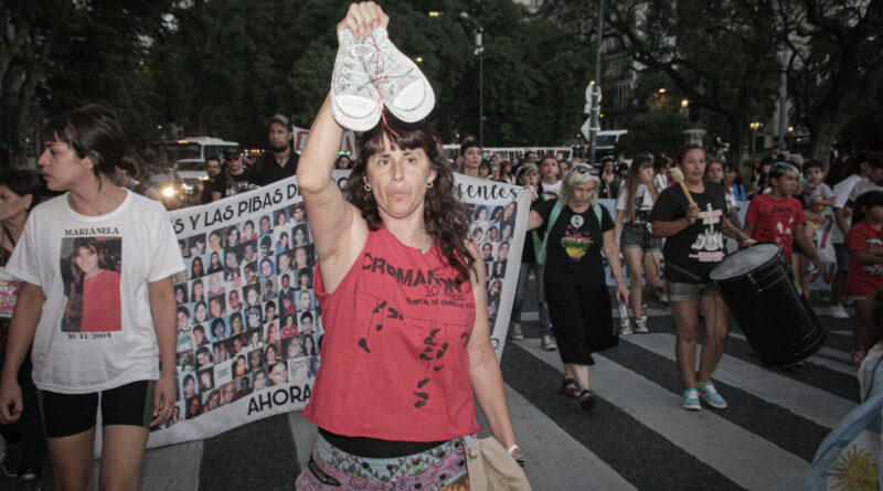
[[[405,122],[428,116],[435,106],[435,93],[416,63],[393,45],[383,28],[377,28],[365,43],[374,51],[362,58],[364,70],[390,113]]]

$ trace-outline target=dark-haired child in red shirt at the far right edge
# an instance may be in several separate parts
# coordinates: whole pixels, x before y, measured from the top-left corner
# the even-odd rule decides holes
[[[859,365],[864,359],[864,337],[874,293],[883,287],[883,191],[869,191],[859,198],[852,223],[847,233],[850,256],[847,295],[855,306],[852,362]]]

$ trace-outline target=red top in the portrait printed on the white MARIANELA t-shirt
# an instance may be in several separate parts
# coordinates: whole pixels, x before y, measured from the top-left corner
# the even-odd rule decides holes
[[[123,329],[119,310],[119,275],[102,269],[83,279],[83,332],[108,332]]]

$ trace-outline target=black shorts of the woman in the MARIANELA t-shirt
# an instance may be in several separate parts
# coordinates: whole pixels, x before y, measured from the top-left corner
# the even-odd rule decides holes
[[[100,393],[58,394],[41,391],[40,406],[47,438],[77,435],[95,426],[98,399],[102,424],[142,426],[152,420],[156,381],[138,381]]]

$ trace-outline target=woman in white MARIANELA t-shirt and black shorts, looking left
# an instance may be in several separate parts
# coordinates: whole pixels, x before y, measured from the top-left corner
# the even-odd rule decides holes
[[[100,401],[102,488],[135,489],[149,427],[166,423],[175,402],[171,276],[184,264],[162,205],[110,182],[126,140],[109,110],[76,109],[51,119],[43,135],[46,185],[68,192],[31,212],[8,265],[22,288],[0,421],[21,414],[15,374],[33,341],[56,485],[93,487]]]

